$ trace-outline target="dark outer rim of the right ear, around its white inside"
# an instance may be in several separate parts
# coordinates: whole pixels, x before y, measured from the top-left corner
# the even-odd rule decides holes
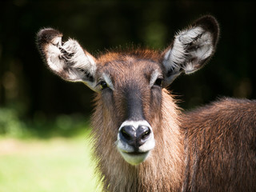
[[[170,51],[173,50],[175,39],[177,38],[178,35],[181,35],[182,32],[196,29],[197,27],[202,28],[202,30],[205,30],[206,32],[210,32],[210,35],[211,35],[210,38],[212,38],[211,39],[211,42],[212,42],[212,50],[211,51],[212,52],[206,59],[203,59],[201,61],[200,67],[198,67],[196,70],[191,70],[191,72],[190,71],[186,72],[186,71],[182,70],[181,67],[176,67],[176,69],[178,69],[178,70],[174,70],[175,69],[174,67],[172,67],[166,63],[170,62],[170,61],[168,61],[168,53],[170,53]],[[162,65],[163,65],[163,68],[166,70],[165,81],[163,82],[163,86],[164,87],[169,86],[172,82],[174,82],[174,79],[177,78],[182,73],[192,74],[195,71],[202,69],[203,66],[205,66],[206,63],[210,61],[210,58],[213,57],[213,55],[217,49],[219,34],[220,34],[220,29],[219,29],[218,21],[211,14],[203,15],[202,17],[200,17],[200,18],[196,19],[194,22],[192,22],[191,25],[187,26],[183,30],[178,31],[178,33],[176,35],[174,35],[173,41],[170,43],[170,46],[168,46],[166,48],[166,50],[164,50],[162,52]],[[174,66],[175,65],[179,66],[179,64],[176,64],[176,63],[174,64]],[[168,67],[166,67],[166,66],[168,66]]]

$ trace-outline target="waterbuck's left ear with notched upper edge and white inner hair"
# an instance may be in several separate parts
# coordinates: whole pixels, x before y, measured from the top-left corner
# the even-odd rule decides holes
[[[95,88],[95,58],[82,49],[74,39],[62,42],[62,34],[51,28],[42,29],[37,35],[38,50],[54,74],[70,82],[84,82]]]

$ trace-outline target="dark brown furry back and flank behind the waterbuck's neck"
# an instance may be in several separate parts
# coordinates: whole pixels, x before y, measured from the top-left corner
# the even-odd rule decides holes
[[[256,102],[224,98],[182,118],[186,191],[256,190]]]

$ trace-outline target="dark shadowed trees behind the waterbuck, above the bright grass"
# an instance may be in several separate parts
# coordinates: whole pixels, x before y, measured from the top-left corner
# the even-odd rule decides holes
[[[0,6],[0,106],[22,118],[92,110],[93,91],[63,82],[42,62],[35,35],[49,26],[97,56],[129,44],[164,50],[175,32],[213,14],[221,27],[214,58],[196,74],[176,79],[170,90],[186,109],[222,96],[256,98],[254,2],[16,0]]]

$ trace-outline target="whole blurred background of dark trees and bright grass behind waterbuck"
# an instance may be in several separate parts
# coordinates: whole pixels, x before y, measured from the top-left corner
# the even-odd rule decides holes
[[[170,86],[178,105],[190,110],[223,96],[256,98],[255,5],[1,1],[0,191],[95,190],[90,177],[83,180],[93,173],[84,163],[90,162],[85,138],[94,93],[82,83],[62,81],[46,68],[35,44],[42,27],[62,31],[64,38],[77,39],[97,55],[130,43],[164,50],[178,30],[204,14],[214,15],[221,28],[216,54],[202,70],[182,75]]]

